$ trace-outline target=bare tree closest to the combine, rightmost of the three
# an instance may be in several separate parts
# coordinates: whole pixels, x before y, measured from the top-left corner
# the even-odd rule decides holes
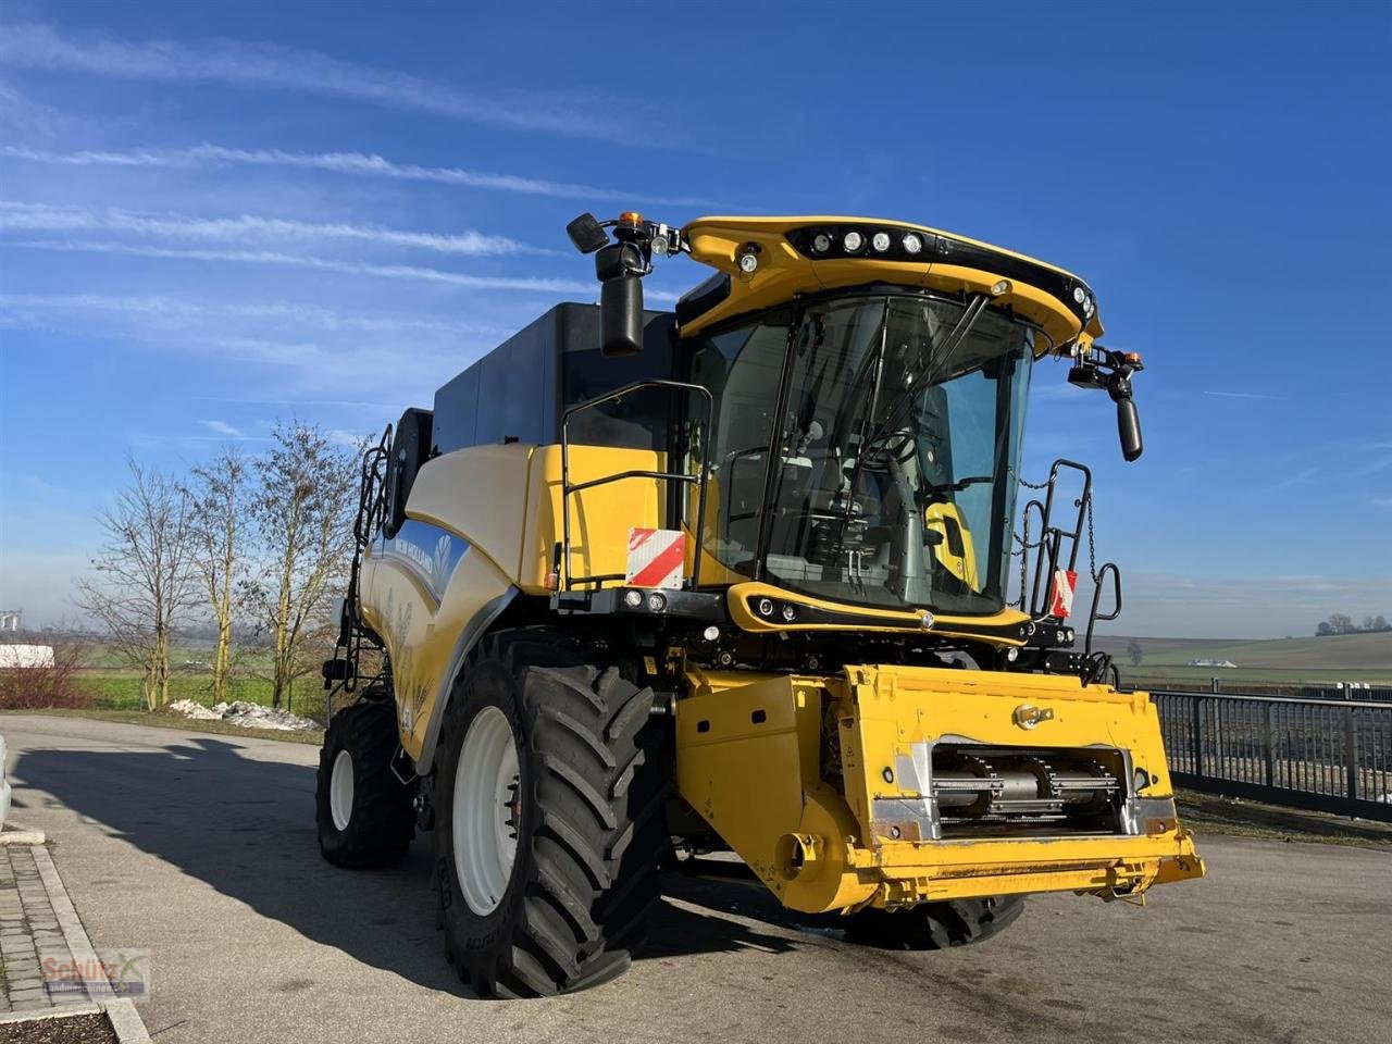
[[[271,706],[313,668],[309,646],[330,617],[352,557],[358,494],[356,454],[312,425],[278,425],[255,461],[251,518],[260,568],[246,603],[270,639]]]

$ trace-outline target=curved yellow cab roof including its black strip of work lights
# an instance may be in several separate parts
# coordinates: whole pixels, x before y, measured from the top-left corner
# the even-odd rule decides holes
[[[1102,334],[1093,291],[1072,273],[926,226],[867,217],[699,217],[682,235],[692,258],[729,277],[682,298],[682,334],[799,294],[870,283],[990,294],[1059,347],[1077,338],[1087,347]]]

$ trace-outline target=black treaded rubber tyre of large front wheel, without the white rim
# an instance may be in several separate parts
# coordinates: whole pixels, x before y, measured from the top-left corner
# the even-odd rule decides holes
[[[470,915],[452,903],[447,947],[483,995],[547,997],[608,981],[646,937],[670,844],[661,820],[668,760],[650,725],[653,692],[617,668],[583,663],[575,642],[543,628],[484,638],[461,685],[484,664],[512,679],[539,807],[528,877],[512,884],[525,889],[515,919],[496,940],[469,947],[461,933]],[[465,703],[457,690],[445,709],[437,773],[448,745],[461,741],[464,721],[452,718]]]

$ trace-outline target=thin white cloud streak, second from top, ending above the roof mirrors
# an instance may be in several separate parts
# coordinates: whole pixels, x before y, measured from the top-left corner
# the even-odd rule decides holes
[[[160,167],[175,170],[216,168],[228,166],[277,167],[283,170],[315,170],[352,177],[418,181],[438,185],[459,185],[496,192],[519,192],[555,199],[614,200],[619,203],[660,203],[665,206],[717,206],[699,196],[654,196],[647,192],[626,192],[612,188],[578,185],[569,181],[548,181],[519,174],[497,174],[465,170],[464,167],[425,167],[416,163],[393,163],[369,152],[285,152],[281,149],[231,149],[221,145],[195,145],[188,149],[129,149],[53,152],[25,145],[0,145],[0,156],[32,163],[70,167]]]

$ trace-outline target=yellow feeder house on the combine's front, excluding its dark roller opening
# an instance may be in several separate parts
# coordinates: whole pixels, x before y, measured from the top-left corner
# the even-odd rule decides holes
[[[1150,774],[1147,807],[1172,809],[1160,724],[1146,693],[1076,678],[923,667],[834,677],[690,671],[677,702],[677,788],[788,906],[818,912],[1041,891],[1139,894],[1203,874],[1172,814],[1126,835],[913,837],[874,802],[919,800],[902,768],[941,739],[1125,752]],[[1033,729],[1022,707],[1048,711]],[[824,724],[839,738],[825,774]]]

